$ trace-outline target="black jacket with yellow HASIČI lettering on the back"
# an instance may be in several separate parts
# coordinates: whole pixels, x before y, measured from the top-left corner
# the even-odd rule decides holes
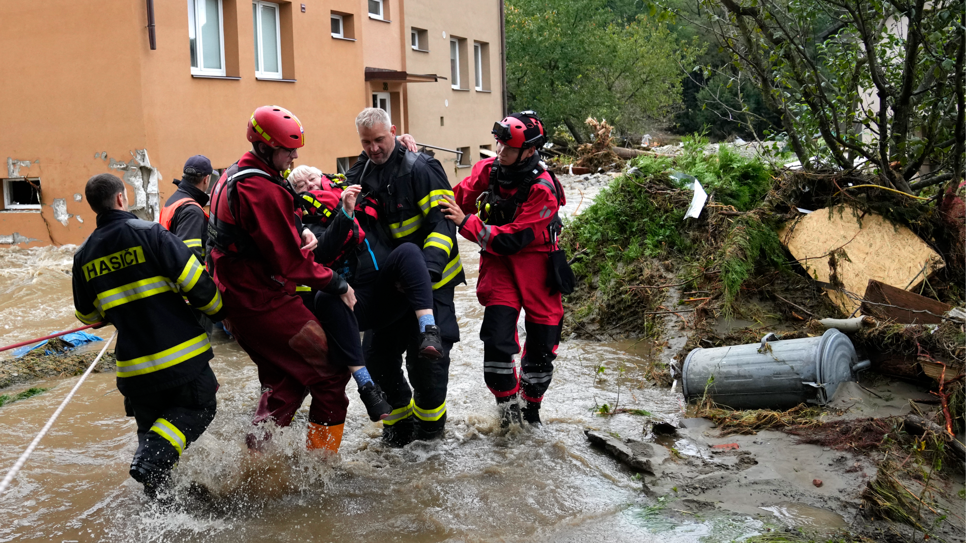
[[[213,321],[224,318],[221,294],[185,243],[128,212],[98,215],[73,255],[74,314],[117,328],[122,394],[179,386],[208,366],[208,335],[185,299]]]

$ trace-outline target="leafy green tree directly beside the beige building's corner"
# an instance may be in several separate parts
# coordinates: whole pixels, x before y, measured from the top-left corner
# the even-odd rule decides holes
[[[549,127],[581,133],[588,116],[639,129],[680,103],[680,66],[700,47],[636,3],[511,0],[506,6],[507,95]],[[642,5],[641,5],[642,6]]]

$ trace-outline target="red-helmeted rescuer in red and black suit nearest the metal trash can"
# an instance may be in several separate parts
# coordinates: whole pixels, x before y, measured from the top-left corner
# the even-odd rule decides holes
[[[483,249],[476,283],[476,298],[486,307],[480,328],[483,379],[497,398],[501,425],[520,422],[521,399],[523,419],[537,425],[563,320],[551,256],[559,250],[557,210],[565,201],[561,186],[540,162],[538,149],[546,135],[536,113],[513,113],[495,124],[493,133],[497,157],[473,164],[455,188],[455,201],[440,208],[463,237]],[[518,376],[513,356],[520,353],[521,307],[526,344]]]

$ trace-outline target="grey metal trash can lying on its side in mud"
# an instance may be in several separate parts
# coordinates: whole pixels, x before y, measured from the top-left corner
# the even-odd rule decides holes
[[[852,340],[838,329],[786,340],[769,333],[761,343],[695,349],[684,360],[681,386],[688,401],[702,398],[707,387],[711,400],[733,409],[825,405],[862,366]]]

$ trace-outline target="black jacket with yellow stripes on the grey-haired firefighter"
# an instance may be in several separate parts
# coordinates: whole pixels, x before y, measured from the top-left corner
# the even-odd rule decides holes
[[[346,177],[350,185],[362,186],[356,210],[378,224],[362,224],[367,238],[379,235],[393,247],[422,247],[433,290],[466,282],[456,225],[440,212],[440,200],[452,198],[453,189],[439,160],[412,153],[397,142],[384,164],[371,163],[362,153]]]

